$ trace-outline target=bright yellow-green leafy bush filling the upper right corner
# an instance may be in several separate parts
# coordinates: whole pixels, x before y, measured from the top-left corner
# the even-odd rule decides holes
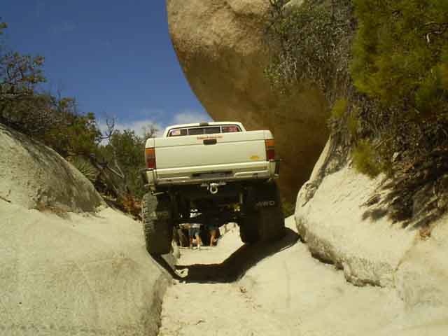
[[[351,74],[358,90],[413,116],[448,111],[448,1],[353,2]]]

